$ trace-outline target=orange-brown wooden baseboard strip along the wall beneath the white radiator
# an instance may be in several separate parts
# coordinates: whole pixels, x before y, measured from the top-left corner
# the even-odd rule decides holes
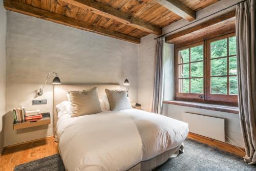
[[[223,151],[244,157],[245,154],[243,152],[241,152],[236,146],[225,143],[225,142],[221,142],[218,140],[214,140],[208,137],[204,137],[202,135],[198,135],[198,134],[194,134],[194,133],[188,133],[187,136],[189,139],[193,139],[196,140],[198,142],[210,145],[210,146],[214,146],[216,148],[222,149]],[[240,148],[242,151],[245,151],[244,148]]]

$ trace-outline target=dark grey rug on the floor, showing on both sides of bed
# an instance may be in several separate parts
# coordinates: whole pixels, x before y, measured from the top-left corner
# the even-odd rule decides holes
[[[175,158],[170,158],[163,165],[154,169],[154,171],[171,170],[256,170],[256,166],[248,165],[243,162],[242,157],[220,151],[217,148],[193,141],[185,140],[185,152]],[[65,167],[60,156],[53,155],[29,163],[18,165],[15,171],[65,171]]]

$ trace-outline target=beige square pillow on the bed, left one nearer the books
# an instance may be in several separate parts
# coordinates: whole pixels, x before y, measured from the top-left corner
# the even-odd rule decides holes
[[[72,117],[101,112],[97,88],[82,91],[69,91]]]

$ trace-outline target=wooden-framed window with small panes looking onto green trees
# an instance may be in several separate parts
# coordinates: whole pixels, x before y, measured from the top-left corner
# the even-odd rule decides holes
[[[236,36],[176,49],[176,99],[237,104]]]

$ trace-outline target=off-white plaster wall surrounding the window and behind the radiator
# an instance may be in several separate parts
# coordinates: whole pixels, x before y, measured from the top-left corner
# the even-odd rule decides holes
[[[207,8],[204,8],[198,11],[197,18],[198,19],[202,18],[216,11],[224,9],[230,5],[236,4],[237,2],[239,2],[239,0],[222,0],[216,4],[213,4]],[[234,8],[236,7],[232,7],[221,13],[226,13],[227,11],[230,11]],[[218,13],[215,16],[220,15],[221,13]],[[213,18],[215,16],[211,16],[206,19],[200,20],[199,22],[193,25],[202,23],[204,20]],[[185,26],[188,23],[189,22],[187,22],[185,19],[181,19],[178,22],[175,22],[174,24],[171,24],[163,28],[163,33],[173,31],[177,28]],[[139,45],[139,53],[138,53],[138,77],[139,77],[138,102],[142,104],[142,108],[146,111],[150,110],[150,105],[152,103],[152,95],[153,95],[155,42],[156,42],[154,40],[155,37],[157,36],[152,34],[146,37],[143,37],[141,39],[141,44]],[[173,87],[170,89],[173,89]],[[183,112],[198,113],[198,114],[204,114],[209,116],[220,116],[220,117],[226,118],[226,127],[225,127],[226,134],[231,139],[233,139],[233,141],[236,142],[239,146],[241,147],[244,146],[242,134],[240,131],[239,115],[224,113],[224,112],[215,112],[215,111],[209,111],[209,110],[201,110],[201,109],[189,108],[189,107],[184,107],[179,105],[164,104],[164,111],[163,111],[164,115],[182,120],[180,116]],[[229,140],[227,140],[226,142],[231,143]]]

